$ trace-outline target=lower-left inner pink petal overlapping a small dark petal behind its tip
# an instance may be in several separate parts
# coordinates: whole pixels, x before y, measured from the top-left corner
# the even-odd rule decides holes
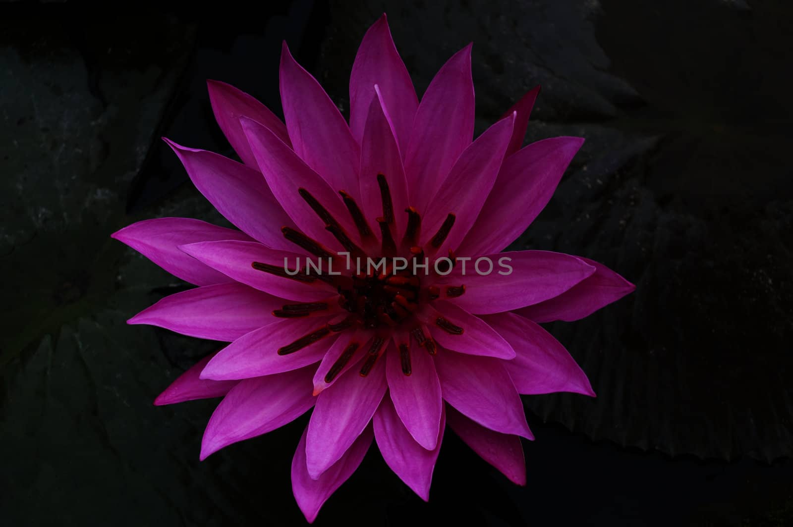
[[[250,379],[289,372],[319,362],[335,342],[336,334],[330,334],[295,353],[279,355],[278,349],[319,329],[328,320],[328,317],[282,319],[251,331],[221,349],[201,372],[201,379]]]

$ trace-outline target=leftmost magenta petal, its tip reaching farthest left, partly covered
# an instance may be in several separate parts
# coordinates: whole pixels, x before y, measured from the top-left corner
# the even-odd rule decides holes
[[[213,240],[251,240],[240,231],[189,218],[139,221],[114,232],[111,237],[132,247],[174,277],[195,285],[222,284],[232,279],[185,254],[178,246]]]

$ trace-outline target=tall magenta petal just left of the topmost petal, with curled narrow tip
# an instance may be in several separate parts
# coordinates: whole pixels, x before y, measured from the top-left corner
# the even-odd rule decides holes
[[[360,151],[344,117],[319,82],[295,62],[283,43],[281,102],[295,152],[331,188],[358,197]]]

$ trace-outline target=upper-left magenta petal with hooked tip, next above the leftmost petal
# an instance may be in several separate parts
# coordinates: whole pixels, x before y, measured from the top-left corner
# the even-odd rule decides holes
[[[294,250],[281,227],[294,227],[258,170],[213,152],[180,147],[165,139],[196,188],[239,230],[274,249]]]

